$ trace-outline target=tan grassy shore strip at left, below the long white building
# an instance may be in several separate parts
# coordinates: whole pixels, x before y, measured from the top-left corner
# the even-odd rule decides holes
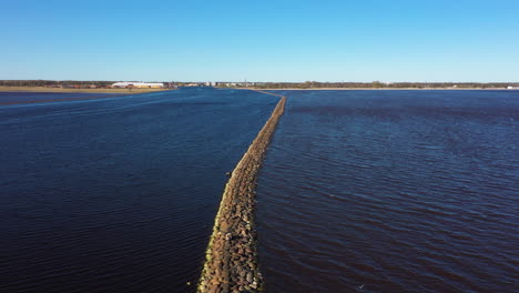
[[[144,93],[167,91],[171,89],[61,89],[44,87],[4,87],[0,85],[0,92],[69,92],[69,93]]]

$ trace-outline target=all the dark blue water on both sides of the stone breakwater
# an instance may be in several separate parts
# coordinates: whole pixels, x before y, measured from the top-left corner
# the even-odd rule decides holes
[[[278,93],[257,199],[267,292],[516,291],[519,92]],[[0,292],[194,291],[225,172],[276,102],[1,105]]]

